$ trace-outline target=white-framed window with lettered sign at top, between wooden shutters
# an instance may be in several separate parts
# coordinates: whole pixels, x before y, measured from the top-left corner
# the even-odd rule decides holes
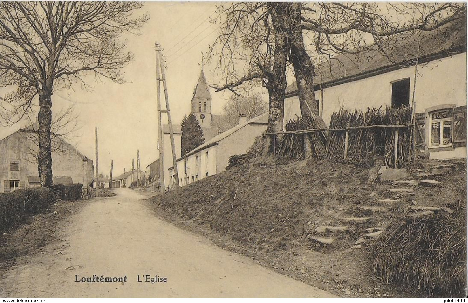
[[[429,148],[452,146],[453,110],[443,109],[429,113]]]

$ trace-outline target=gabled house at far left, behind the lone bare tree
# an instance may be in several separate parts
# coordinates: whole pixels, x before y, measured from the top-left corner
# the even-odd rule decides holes
[[[40,186],[36,134],[37,124],[33,124],[0,140],[0,192]],[[54,137],[51,152],[54,184],[81,183],[84,188],[92,184],[91,159],[59,136]]]

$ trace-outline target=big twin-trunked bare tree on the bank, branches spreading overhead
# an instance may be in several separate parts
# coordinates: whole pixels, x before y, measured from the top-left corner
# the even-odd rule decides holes
[[[389,57],[388,50],[397,45],[401,34],[430,31],[466,18],[464,3],[259,2],[236,3],[220,11],[225,20],[218,39],[222,47],[217,67],[228,71],[223,70],[226,83],[215,87],[234,90],[261,79],[270,94],[269,130],[274,129],[275,118],[280,120],[275,113],[282,110],[279,103],[284,101],[285,57],[293,65],[301,114],[314,116],[318,109],[313,59],[328,61],[331,66],[338,54],[357,55],[366,50]],[[307,51],[306,45],[314,51]]]

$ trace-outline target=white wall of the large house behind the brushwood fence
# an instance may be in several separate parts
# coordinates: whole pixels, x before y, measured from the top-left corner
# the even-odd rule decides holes
[[[409,78],[409,105],[412,104],[412,94],[415,88],[416,112],[425,114],[425,125],[422,132],[426,144],[430,142],[431,113],[436,110],[454,109],[467,105],[467,54],[466,51],[436,59],[417,66],[416,87],[415,68],[410,66],[391,72],[377,74],[343,84],[315,91],[319,100],[319,114],[327,125],[331,115],[340,108],[361,109],[392,105],[392,82]],[[344,75],[343,75],[344,76]],[[465,109],[466,113],[466,109]],[[297,95],[285,99],[284,125],[291,119],[300,116],[299,98]],[[423,119],[424,121],[424,119]],[[452,119],[453,121],[453,119]],[[443,123],[443,122],[442,122]],[[464,146],[450,145],[450,148],[431,148],[431,158],[466,157],[466,140]],[[453,148],[452,148],[453,146]]]

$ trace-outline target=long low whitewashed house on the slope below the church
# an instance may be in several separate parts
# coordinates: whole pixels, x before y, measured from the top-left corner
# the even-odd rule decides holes
[[[268,124],[268,113],[246,121],[241,115],[239,124],[213,137],[177,159],[180,186],[225,171],[232,155],[245,153]],[[174,167],[169,168],[171,184],[176,182]]]

